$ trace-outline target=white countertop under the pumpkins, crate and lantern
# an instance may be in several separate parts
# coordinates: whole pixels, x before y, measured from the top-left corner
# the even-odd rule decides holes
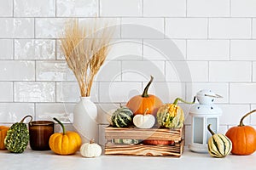
[[[100,156],[85,158],[77,152],[73,156],[58,156],[52,151],[34,151],[26,149],[21,154],[0,150],[0,169],[140,169],[140,170],[255,170],[256,152],[250,156],[227,156],[213,158],[208,154],[193,153],[185,149],[180,158],[150,156]]]

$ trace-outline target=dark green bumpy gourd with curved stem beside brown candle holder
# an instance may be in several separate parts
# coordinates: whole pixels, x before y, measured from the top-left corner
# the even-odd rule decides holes
[[[6,133],[4,146],[10,152],[22,153],[26,149],[29,140],[28,129],[24,123],[26,117],[31,117],[32,120],[32,116],[25,116],[20,122],[16,122],[9,127]]]

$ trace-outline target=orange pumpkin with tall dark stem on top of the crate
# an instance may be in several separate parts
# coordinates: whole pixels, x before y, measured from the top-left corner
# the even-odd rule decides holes
[[[142,95],[134,96],[127,102],[126,106],[131,109],[134,115],[143,114],[148,108],[147,114],[155,116],[160,106],[163,105],[162,101],[158,97],[148,94],[148,88],[151,82],[153,82],[153,79],[154,77],[151,76],[151,79],[146,88],[144,88]]]

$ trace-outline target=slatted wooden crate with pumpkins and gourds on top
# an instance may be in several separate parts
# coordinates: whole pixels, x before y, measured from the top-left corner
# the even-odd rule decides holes
[[[106,127],[105,155],[123,156],[181,156],[184,147],[184,128]],[[174,140],[174,145],[115,144],[113,139]]]

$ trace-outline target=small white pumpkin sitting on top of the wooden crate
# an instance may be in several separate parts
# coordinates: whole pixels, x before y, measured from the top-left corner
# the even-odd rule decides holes
[[[154,127],[155,118],[153,115],[146,115],[148,108],[144,112],[144,115],[136,115],[133,117],[133,124],[139,128],[151,128]]]

